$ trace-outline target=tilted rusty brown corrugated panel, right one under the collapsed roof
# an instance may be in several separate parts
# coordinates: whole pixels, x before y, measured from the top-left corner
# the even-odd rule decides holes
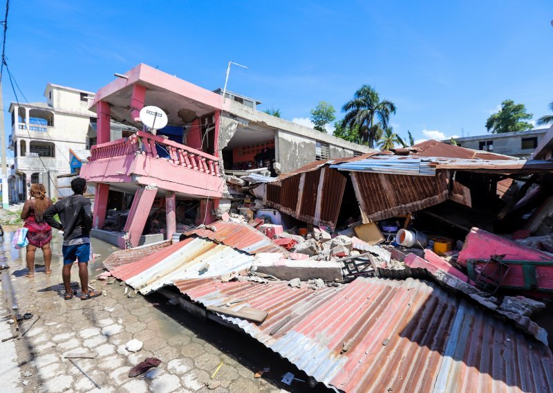
[[[351,172],[364,223],[429,208],[447,199],[446,174],[406,176]]]

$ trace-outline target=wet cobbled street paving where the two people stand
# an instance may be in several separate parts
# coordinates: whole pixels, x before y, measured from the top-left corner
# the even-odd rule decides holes
[[[2,257],[10,264],[10,269],[1,273],[1,316],[16,313],[12,310],[14,305],[17,313],[33,313],[32,320],[22,322],[21,332],[40,317],[20,340],[0,343],[3,358],[15,345],[20,366],[19,381],[15,383],[22,392],[98,392],[77,367],[64,359],[64,354],[75,351],[97,352],[96,358],[79,358],[75,363],[103,392],[279,392],[285,387],[279,381],[285,372],[302,378],[287,360],[279,359],[258,342],[214,322],[189,316],[160,295],[144,298],[129,288],[133,295],[129,298],[124,294],[126,286],[119,282],[93,281],[91,285],[106,295],[87,301],[64,300],[60,295],[63,286],[59,237],[52,244],[53,274],[44,274],[41,252],[37,251],[37,271],[32,279],[24,277],[23,254],[11,248],[10,234],[0,241]],[[99,273],[95,269],[113,251],[102,242],[95,241],[94,246],[94,252],[102,256],[89,266],[91,277]],[[72,280],[75,284],[78,280],[76,267]],[[15,332],[14,325],[5,328],[5,319],[1,324],[4,336]],[[144,343],[135,354],[125,349],[132,338]],[[129,378],[129,369],[147,357],[160,358],[162,363],[147,374]],[[254,378],[254,373],[263,367],[270,367],[270,373]],[[17,371],[17,367],[12,368]],[[310,389],[294,382],[286,390]]]

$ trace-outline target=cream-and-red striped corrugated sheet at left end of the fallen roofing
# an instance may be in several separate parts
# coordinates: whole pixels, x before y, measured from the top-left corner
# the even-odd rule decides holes
[[[243,271],[252,266],[254,257],[214,241],[189,238],[162,248],[137,262],[124,264],[111,275],[124,280],[142,295],[157,291],[175,280],[217,277]]]

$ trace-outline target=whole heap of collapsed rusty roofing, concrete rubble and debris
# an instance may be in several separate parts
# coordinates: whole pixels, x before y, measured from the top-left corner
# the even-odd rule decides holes
[[[428,390],[468,389],[455,385],[463,379],[551,390],[547,331],[531,317],[552,300],[552,173],[553,162],[435,141],[277,178],[247,173],[227,178],[236,188],[220,221],[151,253],[115,253],[106,268],[144,295],[167,286],[174,304],[236,325],[312,385],[400,391],[429,378]],[[520,351],[505,349],[493,370],[471,363],[498,340]],[[407,351],[427,368],[400,367]],[[468,374],[448,366],[453,354]],[[523,360],[540,366],[514,374],[534,378],[496,374]],[[379,361],[394,378],[371,370]]]

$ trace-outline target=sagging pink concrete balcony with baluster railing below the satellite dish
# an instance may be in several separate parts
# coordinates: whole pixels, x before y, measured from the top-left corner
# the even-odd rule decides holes
[[[161,147],[168,158],[158,156]],[[91,149],[81,176],[126,192],[139,185],[157,185],[184,198],[221,198],[223,179],[216,156],[139,131]]]

